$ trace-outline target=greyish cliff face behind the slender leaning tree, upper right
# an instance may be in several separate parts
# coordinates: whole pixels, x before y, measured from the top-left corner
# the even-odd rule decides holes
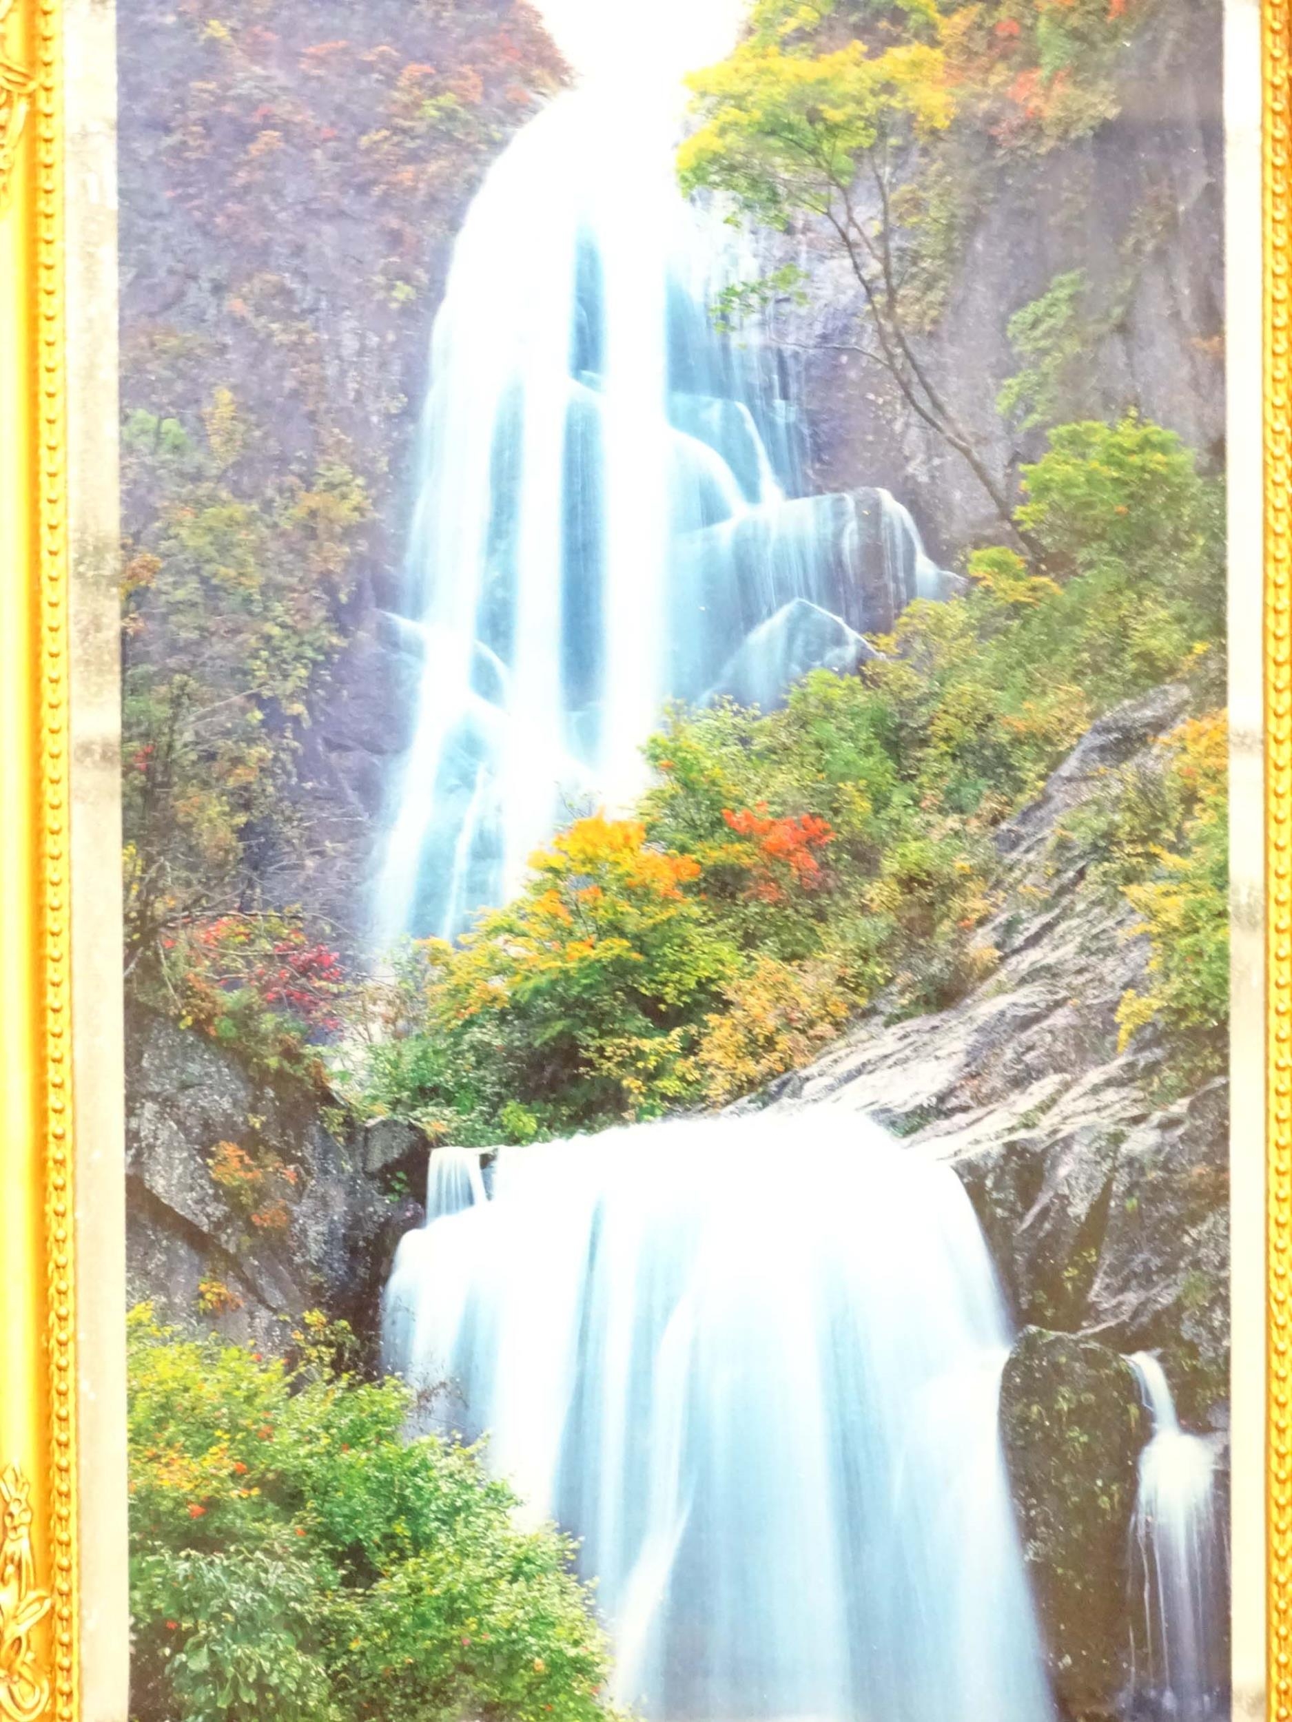
[[[1082,270],[1078,360],[1065,367],[1058,420],[1137,406],[1204,458],[1225,436],[1223,124],[1216,76],[1221,9],[1161,7],[1120,71],[1120,114],[1046,153],[985,139],[958,167],[966,222],[946,310],[922,356],[987,467],[1016,475],[1044,439],[996,412],[1023,369],[1006,325],[1056,276]],[[916,518],[930,553],[999,542],[1003,529],[965,461],[916,420],[884,370],[851,348],[865,331],[858,284],[829,232],[784,255],[808,270],[804,305],[772,322],[803,367],[810,487],[882,484]]]

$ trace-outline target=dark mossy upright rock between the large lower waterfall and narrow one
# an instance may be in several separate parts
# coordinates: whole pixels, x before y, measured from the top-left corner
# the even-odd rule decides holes
[[[1113,1717],[1130,1672],[1130,1521],[1149,1438],[1134,1371],[1094,1340],[1023,1328],[1001,1379],[1001,1431],[1059,1710]]]

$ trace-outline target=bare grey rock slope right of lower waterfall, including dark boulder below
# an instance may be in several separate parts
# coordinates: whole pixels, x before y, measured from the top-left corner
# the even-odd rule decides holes
[[[1183,706],[1166,687],[1109,713],[1001,828],[987,982],[935,1014],[863,1019],[768,1097],[808,1137],[825,1100],[870,1114],[963,1180],[1022,1329],[1003,1429],[1051,1677],[1082,1719],[1118,1713],[1130,1677],[1121,1598],[1149,1422],[1125,1353],[1158,1352],[1185,1426],[1227,1426],[1228,1109],[1221,1080],[1154,1099],[1152,1035],[1118,1050],[1146,942],[1054,837],[1109,768],[1149,766]]]

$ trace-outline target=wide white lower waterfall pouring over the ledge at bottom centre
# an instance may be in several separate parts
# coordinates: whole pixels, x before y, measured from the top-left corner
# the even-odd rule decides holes
[[[1047,1722],[958,1178],[877,1126],[500,1150],[400,1245],[386,1362],[582,1539],[617,1696],[696,1722]]]

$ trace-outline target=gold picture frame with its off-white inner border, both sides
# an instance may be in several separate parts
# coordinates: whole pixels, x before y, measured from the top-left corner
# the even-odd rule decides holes
[[[1225,7],[1232,1712],[1292,1715],[1292,14]],[[0,1719],[127,1722],[117,46],[0,0]]]

